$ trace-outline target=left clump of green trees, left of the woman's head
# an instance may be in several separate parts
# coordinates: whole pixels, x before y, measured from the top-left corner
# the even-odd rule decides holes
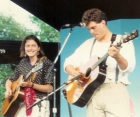
[[[4,16],[3,14],[0,14],[1,40],[22,40],[30,33],[31,30],[28,30],[17,23],[11,16]]]

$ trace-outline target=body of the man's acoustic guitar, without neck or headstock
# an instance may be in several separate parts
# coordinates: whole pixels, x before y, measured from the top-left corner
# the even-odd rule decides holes
[[[85,73],[87,68],[90,68],[91,64],[94,64],[97,61],[98,57],[93,56],[85,65],[78,68],[78,70]],[[68,102],[79,107],[85,106],[91,99],[94,91],[105,81],[105,74],[106,71],[100,66],[97,66],[91,71],[89,78],[84,78],[83,75],[79,80],[70,83],[66,87]]]

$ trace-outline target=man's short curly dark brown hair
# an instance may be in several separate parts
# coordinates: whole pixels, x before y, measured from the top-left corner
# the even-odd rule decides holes
[[[85,11],[83,14],[83,17],[82,17],[82,22],[85,23],[86,25],[90,21],[94,21],[96,23],[101,23],[102,20],[105,20],[105,22],[107,24],[106,14],[103,11],[96,9],[96,8]]]

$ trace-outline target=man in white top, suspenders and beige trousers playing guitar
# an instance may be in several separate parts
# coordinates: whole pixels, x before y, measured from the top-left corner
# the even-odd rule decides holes
[[[107,27],[106,14],[99,9],[87,10],[83,14],[82,22],[94,38],[86,40],[66,58],[65,71],[72,77],[84,74],[76,68],[86,64],[93,56],[102,58],[106,53],[109,55],[103,61],[107,66],[105,81],[88,101],[87,117],[130,117],[126,85],[130,84],[128,75],[135,67],[133,43],[123,43],[121,49],[117,48],[115,45],[120,42],[121,35],[113,36]],[[92,64],[91,62],[91,66]]]

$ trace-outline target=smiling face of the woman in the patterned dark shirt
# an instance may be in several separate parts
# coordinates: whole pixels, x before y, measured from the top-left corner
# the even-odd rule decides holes
[[[37,45],[37,43],[34,40],[30,39],[26,41],[25,43],[26,55],[28,55],[29,57],[37,56],[39,50],[40,47]]]

